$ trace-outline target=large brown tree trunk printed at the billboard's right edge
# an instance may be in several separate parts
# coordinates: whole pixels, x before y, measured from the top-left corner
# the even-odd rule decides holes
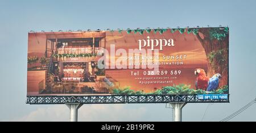
[[[219,86],[228,84],[228,44],[229,35],[222,40],[210,39],[209,28],[200,28],[196,35],[205,50],[208,61],[207,76],[210,78],[216,73],[220,73],[222,78]],[[214,54],[213,59],[209,55]]]

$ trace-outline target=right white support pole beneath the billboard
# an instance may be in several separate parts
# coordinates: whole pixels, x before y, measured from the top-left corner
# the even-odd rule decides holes
[[[174,109],[174,122],[181,122],[182,121],[182,108],[186,105],[185,102],[174,102],[170,103],[172,108]]]

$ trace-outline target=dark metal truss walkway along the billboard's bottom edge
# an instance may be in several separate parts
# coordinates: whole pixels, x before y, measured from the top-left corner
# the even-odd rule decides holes
[[[229,95],[228,95],[229,97]],[[114,104],[114,103],[226,103],[228,99],[199,99],[197,95],[29,95],[26,103],[45,104]]]

